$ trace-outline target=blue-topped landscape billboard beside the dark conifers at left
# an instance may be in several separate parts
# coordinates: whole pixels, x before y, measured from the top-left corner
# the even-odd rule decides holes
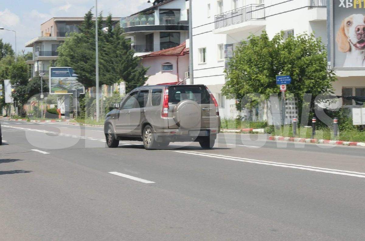
[[[84,85],[77,81],[71,67],[50,67],[49,86],[50,94],[72,94],[74,91],[85,94]]]

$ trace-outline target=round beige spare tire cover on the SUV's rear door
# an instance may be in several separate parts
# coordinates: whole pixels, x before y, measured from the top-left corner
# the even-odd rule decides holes
[[[177,125],[184,129],[200,126],[200,105],[193,100],[183,100],[174,108],[173,118]]]

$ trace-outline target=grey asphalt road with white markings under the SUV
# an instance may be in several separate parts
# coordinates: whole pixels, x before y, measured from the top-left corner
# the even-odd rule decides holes
[[[365,239],[364,147],[110,149],[97,127],[1,126],[0,240]]]

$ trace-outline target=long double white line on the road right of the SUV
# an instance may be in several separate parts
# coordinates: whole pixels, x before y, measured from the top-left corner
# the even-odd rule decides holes
[[[226,160],[232,160],[232,161],[239,161],[239,162],[249,162],[249,163],[269,165],[269,166],[278,166],[278,167],[289,167],[289,168],[294,168],[294,169],[317,171],[317,172],[323,172],[323,173],[332,173],[332,174],[346,175],[346,176],[351,176],[351,177],[365,178],[365,173],[360,173],[360,172],[357,172],[357,171],[337,170],[337,169],[297,165],[297,164],[282,163],[282,162],[261,161],[261,160],[248,159],[248,158],[240,158],[240,157],[231,157],[231,156],[218,155],[218,154],[202,153],[202,152],[197,152],[197,151],[175,151],[175,152],[191,154],[191,155],[199,155],[199,156],[203,156],[203,157],[212,157],[212,158],[226,159]]]

